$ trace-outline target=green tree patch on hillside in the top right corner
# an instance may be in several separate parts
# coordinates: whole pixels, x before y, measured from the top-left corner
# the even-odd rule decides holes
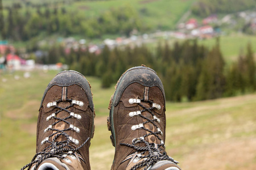
[[[206,17],[255,9],[256,0],[199,0],[192,6],[192,13]]]

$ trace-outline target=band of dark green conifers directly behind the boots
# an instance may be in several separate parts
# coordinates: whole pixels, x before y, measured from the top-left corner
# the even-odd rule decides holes
[[[127,69],[146,65],[154,69],[164,84],[166,99],[196,101],[246,94],[256,90],[255,61],[251,44],[246,54],[227,66],[218,40],[213,48],[199,45],[196,40],[159,42],[156,48],[123,46],[112,50],[105,46],[100,54],[88,50],[71,50],[65,54],[61,46],[52,47],[43,62],[61,61],[71,70],[97,76],[102,87],[110,87]],[[41,61],[42,62],[42,61]]]

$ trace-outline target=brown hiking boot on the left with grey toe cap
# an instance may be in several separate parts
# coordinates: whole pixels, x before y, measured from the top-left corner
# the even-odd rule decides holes
[[[90,85],[76,71],[62,71],[48,84],[39,109],[36,155],[22,169],[90,169],[94,133]]]

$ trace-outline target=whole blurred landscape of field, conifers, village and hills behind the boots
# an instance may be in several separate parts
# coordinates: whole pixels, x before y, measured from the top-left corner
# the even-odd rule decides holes
[[[43,92],[61,70],[92,86],[92,169],[110,169],[106,126],[119,76],[154,69],[166,149],[183,169],[256,169],[255,0],[0,0],[0,169],[36,148]]]

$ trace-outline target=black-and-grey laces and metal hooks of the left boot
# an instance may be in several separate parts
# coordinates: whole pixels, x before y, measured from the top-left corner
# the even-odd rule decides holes
[[[36,168],[38,168],[38,165],[40,163],[42,163],[44,160],[46,160],[48,158],[65,159],[65,157],[67,157],[68,155],[76,156],[75,152],[77,152],[81,147],[83,147],[85,145],[85,143],[89,140],[90,137],[88,137],[86,139],[86,141],[84,143],[82,143],[79,147],[74,148],[73,146],[71,146],[71,143],[75,143],[76,145],[79,145],[79,141],[77,139],[70,137],[65,131],[75,130],[77,133],[79,133],[80,129],[73,126],[72,124],[70,124],[67,120],[69,118],[80,119],[81,116],[79,114],[75,114],[71,111],[68,111],[68,108],[73,107],[73,105],[75,105],[75,104],[80,105],[80,107],[82,107],[83,103],[82,103],[82,101],[67,99],[66,101],[69,101],[70,105],[65,108],[62,108],[57,105],[61,101],[62,100],[57,100],[57,101],[53,101],[53,102],[47,104],[48,108],[49,107],[58,108],[58,110],[55,113],[52,113],[46,119],[48,121],[49,119],[54,118],[57,121],[53,122],[52,125],[49,125],[48,128],[44,130],[45,132],[48,130],[52,130],[52,131],[56,131],[56,132],[52,133],[51,135],[49,135],[49,137],[45,138],[41,142],[42,145],[43,145],[43,143],[49,143],[50,145],[47,146],[46,148],[44,148],[44,150],[42,152],[36,153],[35,156],[33,157],[33,159],[31,160],[31,162],[28,163],[27,165],[24,165],[24,167],[21,170],[26,169],[26,168],[30,169],[33,164],[35,164],[34,169],[36,169]],[[69,116],[65,117],[65,118],[56,117],[56,115],[58,113],[60,113],[61,111],[68,112]],[[57,123],[59,123],[61,121],[68,124],[69,128],[63,129],[63,130],[52,128],[54,125],[56,125]],[[60,141],[60,142],[56,141],[56,139],[60,136],[65,137],[65,140]],[[51,138],[51,137],[52,137],[52,141],[49,141],[49,138]],[[79,156],[79,158],[80,158],[80,156]]]

